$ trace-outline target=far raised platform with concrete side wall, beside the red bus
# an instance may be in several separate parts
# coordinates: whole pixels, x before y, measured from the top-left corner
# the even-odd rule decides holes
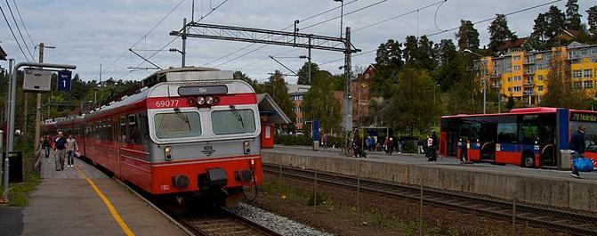
[[[460,191],[497,199],[597,212],[597,171],[571,177],[570,171],[532,169],[489,163],[461,164],[458,159],[427,161],[424,155],[386,156],[367,152],[367,159],[344,156],[337,149],[312,151],[311,147],[276,146],[262,150],[262,162],[286,167],[302,167],[340,175],[359,175],[401,184]]]

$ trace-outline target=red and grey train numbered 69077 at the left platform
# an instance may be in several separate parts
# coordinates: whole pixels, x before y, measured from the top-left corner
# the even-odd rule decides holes
[[[47,121],[43,133],[73,134],[81,156],[154,195],[238,199],[244,186],[262,183],[251,85],[230,71],[182,68],[141,86],[83,116]]]

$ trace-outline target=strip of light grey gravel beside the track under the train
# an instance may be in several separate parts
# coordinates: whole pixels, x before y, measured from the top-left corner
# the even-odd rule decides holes
[[[269,211],[265,211],[261,208],[255,208],[245,203],[239,203],[236,208],[231,208],[230,211],[238,216],[243,216],[254,223],[268,227],[282,235],[333,235],[327,232],[319,232],[305,224],[297,223],[294,220],[288,219],[284,216],[278,216]]]

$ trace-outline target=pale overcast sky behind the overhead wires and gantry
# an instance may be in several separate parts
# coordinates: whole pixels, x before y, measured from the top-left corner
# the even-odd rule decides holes
[[[211,8],[221,4],[224,0],[195,0],[195,18],[205,15]],[[380,0],[345,0],[344,13],[352,12],[369,4],[383,2]],[[14,8],[12,0],[8,1],[12,6],[12,12],[20,23],[19,16]],[[182,18],[191,18],[192,0],[185,0],[172,12],[170,16],[153,29],[147,37],[144,37],[151,28],[156,26],[167,12],[170,12],[181,0],[16,0],[21,16],[27,26],[33,42],[38,44],[56,46],[56,49],[45,50],[45,62],[76,64],[77,71],[84,80],[91,80],[99,77],[100,64],[103,65],[103,78],[108,77],[122,79],[140,79],[147,76],[151,71],[135,71],[129,73],[127,67],[135,67],[142,60],[127,50],[134,45],[135,49],[155,50],[163,47],[173,37],[168,33],[173,29],[182,28]],[[379,20],[384,20],[406,12],[411,12],[425,5],[440,2],[439,0],[387,0],[376,4],[360,12],[354,12],[344,16],[344,26],[353,30],[362,28]],[[448,0],[446,3],[433,5],[417,13],[410,13],[395,20],[384,22],[375,27],[364,28],[353,32],[353,45],[364,52],[375,49],[377,45],[390,38],[400,42],[408,35],[432,34],[440,29],[454,28],[464,20],[484,20],[493,17],[496,13],[515,12],[530,6],[545,4],[547,0]],[[583,22],[586,22],[585,10],[596,4],[593,0],[580,0],[580,13],[583,15]],[[210,6],[211,4],[211,6]],[[555,3],[564,11],[566,1]],[[12,17],[4,1],[0,5],[6,17],[12,24],[17,38],[20,35],[14,27]],[[319,12],[338,6],[339,3],[332,0],[228,0],[222,6],[206,16],[201,22],[222,24],[230,26],[241,26],[251,28],[282,29],[292,24],[294,20],[305,19]],[[549,5],[539,7],[526,12],[520,12],[508,17],[510,28],[519,35],[527,36],[533,27],[533,20],[539,12],[546,12]],[[437,17],[435,12],[437,10]],[[322,20],[328,20],[340,15],[340,9],[328,12],[311,20],[303,20],[299,28],[307,27]],[[417,23],[418,21],[418,23]],[[418,25],[418,27],[417,27]],[[440,28],[440,29],[438,29]],[[480,31],[481,45],[488,43],[488,22],[475,25]],[[37,59],[37,51],[34,52],[34,45],[29,41],[28,36],[20,26],[29,50]],[[288,30],[292,31],[292,28]],[[305,29],[303,33],[320,34],[327,36],[340,35],[340,20],[331,20],[319,26]],[[454,38],[455,31],[432,36],[434,42],[441,38]],[[12,38],[9,28],[4,19],[0,18],[0,45],[10,57],[16,61],[25,61],[20,53],[19,47]],[[268,45],[254,53],[248,53],[261,45],[252,45],[243,51],[239,51],[220,61],[214,61],[242,48],[247,43],[216,41],[209,39],[190,38],[187,41],[187,65],[195,66],[217,66],[219,69],[236,70],[241,69],[250,77],[260,81],[268,77],[269,72],[280,69],[286,70],[276,62],[268,59],[268,54],[282,57],[282,61],[291,69],[297,70],[304,60],[283,57],[298,57],[305,54],[304,49],[294,49]],[[182,41],[177,39],[167,48],[181,48]],[[26,53],[27,49],[23,47]],[[149,56],[151,51],[141,52]],[[242,54],[246,54],[232,60]],[[121,55],[123,55],[121,57]],[[325,63],[343,58],[342,53],[324,52],[314,50],[312,53],[313,62]],[[353,58],[353,65],[366,67],[372,63],[375,53],[367,53]],[[180,66],[181,56],[179,53],[159,52],[151,61],[162,68]],[[208,62],[214,61],[210,64]],[[224,63],[226,62],[226,63]],[[333,73],[341,72],[338,69],[343,61],[336,61],[322,65],[321,68],[328,69]],[[0,66],[6,68],[6,61],[0,62]],[[141,67],[149,67],[145,63]],[[289,83],[294,83],[295,77],[286,77]]]

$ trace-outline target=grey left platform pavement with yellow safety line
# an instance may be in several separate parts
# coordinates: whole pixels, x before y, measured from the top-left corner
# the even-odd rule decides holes
[[[125,234],[107,205],[77,169],[103,192],[134,235],[184,235],[142,199],[95,167],[76,159],[75,168],[55,171],[53,157],[44,159],[44,179],[29,196],[28,207],[22,210],[22,235]]]

